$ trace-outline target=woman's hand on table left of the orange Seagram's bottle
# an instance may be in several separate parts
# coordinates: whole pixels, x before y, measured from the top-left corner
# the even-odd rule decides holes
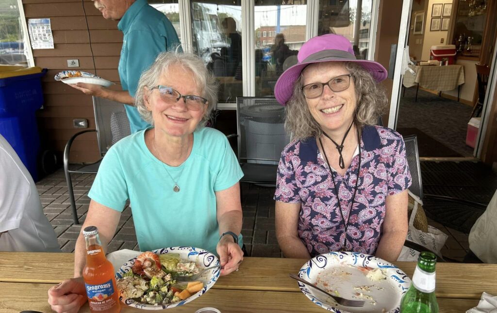
[[[48,304],[57,313],[78,312],[86,301],[83,277],[66,279],[48,290]]]

